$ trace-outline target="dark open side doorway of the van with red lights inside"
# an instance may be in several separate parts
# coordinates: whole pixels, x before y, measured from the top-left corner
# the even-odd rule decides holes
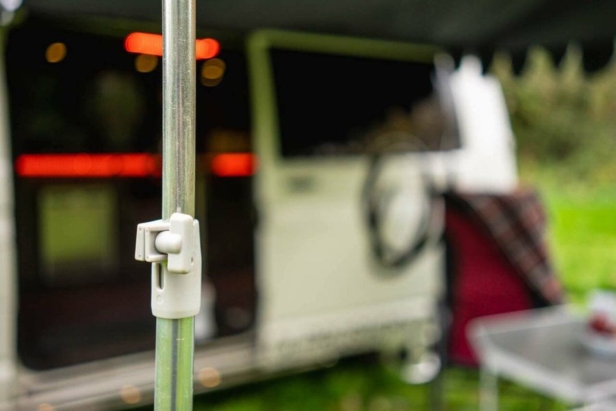
[[[137,25],[100,28],[29,16],[8,38],[18,349],[34,369],[154,344],[150,268],[134,242],[138,223],[160,218],[162,59],[125,51]],[[251,178],[208,169],[212,151],[250,149],[245,56],[219,41],[216,58],[197,62],[196,216],[223,336],[251,327],[256,297]]]

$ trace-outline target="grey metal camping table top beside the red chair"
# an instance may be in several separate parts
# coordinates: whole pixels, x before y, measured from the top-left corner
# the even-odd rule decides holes
[[[469,338],[481,366],[574,403],[616,397],[616,356],[582,345],[586,321],[567,306],[476,319]]]

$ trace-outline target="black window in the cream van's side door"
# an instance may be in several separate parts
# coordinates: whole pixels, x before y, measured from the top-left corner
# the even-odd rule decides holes
[[[284,49],[272,49],[271,60],[283,157],[365,153],[384,129],[438,148],[442,124],[419,120],[431,103],[439,116],[432,64]]]

